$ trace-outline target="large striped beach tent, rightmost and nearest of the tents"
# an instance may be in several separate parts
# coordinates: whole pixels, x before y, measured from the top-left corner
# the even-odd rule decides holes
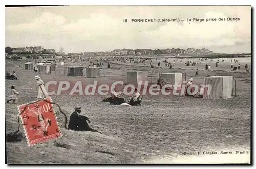
[[[233,76],[204,77],[204,85],[203,98],[205,99],[232,98]]]

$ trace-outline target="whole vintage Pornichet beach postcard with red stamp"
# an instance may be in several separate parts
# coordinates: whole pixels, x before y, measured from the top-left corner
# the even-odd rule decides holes
[[[251,6],[5,10],[8,164],[251,163]]]

